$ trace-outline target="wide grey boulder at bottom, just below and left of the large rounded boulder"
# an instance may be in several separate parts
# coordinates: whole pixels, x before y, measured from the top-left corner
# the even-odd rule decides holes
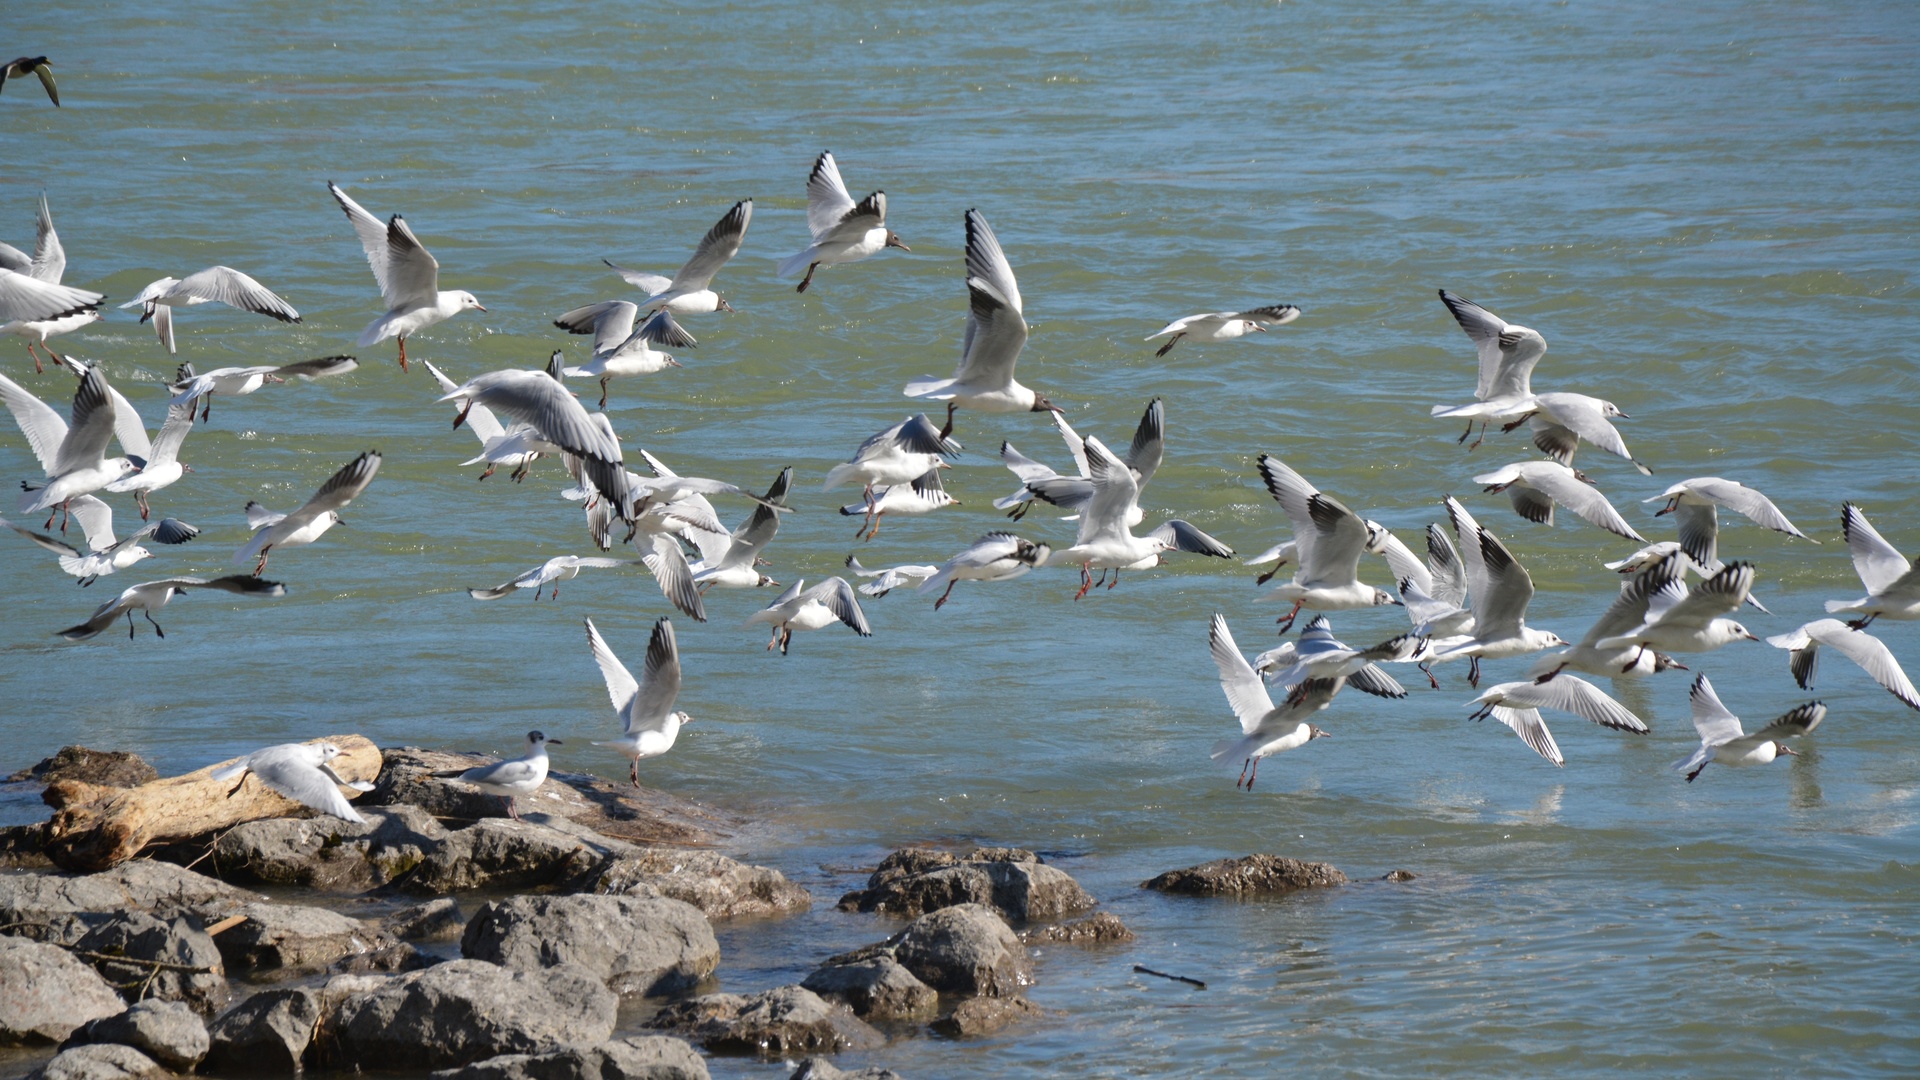
[[[612,942],[601,947],[616,951]],[[576,965],[507,970],[447,961],[348,995],[317,1042],[319,1065],[453,1068],[503,1053],[599,1043],[612,1036],[618,1007],[620,997]]]

